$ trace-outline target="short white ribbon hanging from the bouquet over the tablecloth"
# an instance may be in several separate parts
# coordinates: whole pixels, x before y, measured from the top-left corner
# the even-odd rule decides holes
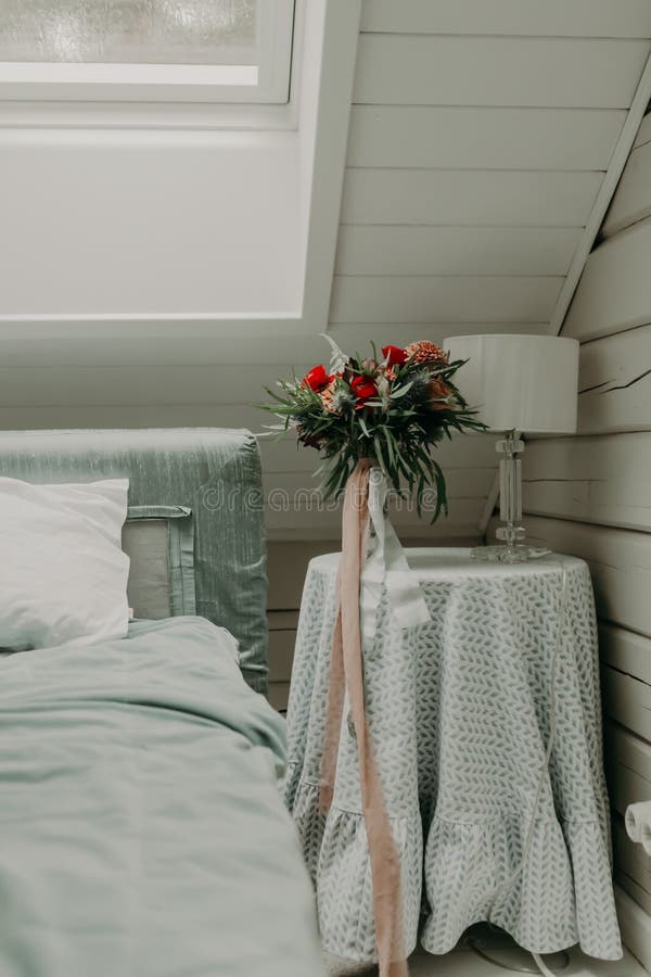
[[[400,627],[413,627],[431,621],[420,584],[409,568],[396,531],[384,513],[388,495],[386,477],[381,468],[369,473],[369,518],[373,533],[361,573],[361,633],[363,643],[375,636],[382,586]]]

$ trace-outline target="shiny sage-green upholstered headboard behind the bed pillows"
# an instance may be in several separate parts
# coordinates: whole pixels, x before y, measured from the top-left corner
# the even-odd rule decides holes
[[[192,510],[196,613],[235,636],[244,677],[267,687],[260,460],[248,431],[0,432],[0,474],[35,483],[129,479],[129,506]]]

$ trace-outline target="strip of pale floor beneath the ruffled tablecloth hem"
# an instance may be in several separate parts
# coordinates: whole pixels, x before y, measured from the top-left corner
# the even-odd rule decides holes
[[[422,951],[416,953],[409,961],[410,977],[499,977],[500,974],[509,973],[524,972],[534,975],[538,973],[529,954],[520,950],[508,937],[495,935],[484,927],[476,927],[471,936],[475,946],[496,961],[502,962],[503,968],[478,956],[468,942],[461,942],[446,956],[432,956]],[[591,960],[577,950],[572,950],[569,956],[569,960],[563,954],[546,956],[545,963],[559,977],[648,977],[647,970],[628,951],[625,952],[623,960],[613,962]],[[361,977],[362,973],[365,977],[376,975],[376,970],[354,972],[339,968],[333,968],[330,973],[342,977],[344,974],[346,977],[348,974],[359,974]]]

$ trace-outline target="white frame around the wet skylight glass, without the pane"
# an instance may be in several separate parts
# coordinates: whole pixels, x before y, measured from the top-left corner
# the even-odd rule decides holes
[[[285,104],[294,0],[260,0],[259,64],[0,62],[0,102]]]

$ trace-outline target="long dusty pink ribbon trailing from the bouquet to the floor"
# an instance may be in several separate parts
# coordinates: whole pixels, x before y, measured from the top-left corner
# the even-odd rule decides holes
[[[345,691],[355,726],[359,785],[366,825],[380,977],[408,977],[403,941],[400,860],[384,807],[382,783],[363,706],[363,662],[359,592],[369,529],[369,461],[360,461],[346,483],[342,556],[336,576],[336,622],[330,664],[320,802],[332,803]]]

